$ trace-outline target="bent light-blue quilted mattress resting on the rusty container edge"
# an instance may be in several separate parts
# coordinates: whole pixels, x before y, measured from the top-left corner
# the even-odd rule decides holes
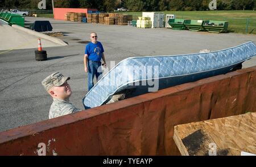
[[[232,71],[256,55],[253,41],[209,53],[130,57],[105,74],[82,102],[85,109],[106,104],[113,95],[130,97]]]

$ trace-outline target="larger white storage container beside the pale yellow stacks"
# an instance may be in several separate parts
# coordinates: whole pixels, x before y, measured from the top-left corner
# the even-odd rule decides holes
[[[160,12],[142,12],[142,17],[150,17],[152,22],[151,28],[162,28],[164,13]]]

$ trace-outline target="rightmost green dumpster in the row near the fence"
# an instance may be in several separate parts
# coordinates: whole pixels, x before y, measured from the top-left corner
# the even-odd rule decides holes
[[[203,28],[208,32],[228,32],[229,22],[218,21],[218,20],[205,20],[203,23]]]

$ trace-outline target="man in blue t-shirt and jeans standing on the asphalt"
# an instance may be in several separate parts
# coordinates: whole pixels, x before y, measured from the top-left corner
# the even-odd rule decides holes
[[[93,87],[93,78],[96,75],[97,81],[101,72],[101,58],[104,62],[103,66],[106,68],[106,60],[104,56],[104,49],[101,42],[97,41],[97,33],[90,33],[91,42],[86,45],[84,53],[84,71],[88,72],[88,92]]]

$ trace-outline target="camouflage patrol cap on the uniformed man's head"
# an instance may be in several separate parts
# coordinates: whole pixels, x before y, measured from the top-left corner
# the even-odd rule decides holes
[[[44,86],[46,91],[49,91],[49,89],[54,86],[59,87],[63,85],[69,79],[69,76],[63,76],[63,74],[61,74],[60,72],[54,72],[42,81],[42,85]]]

